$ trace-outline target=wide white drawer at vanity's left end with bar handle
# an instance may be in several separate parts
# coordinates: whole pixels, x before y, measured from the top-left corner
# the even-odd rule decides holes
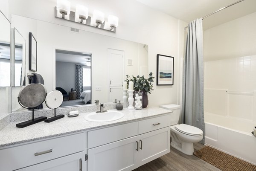
[[[84,136],[78,133],[0,150],[0,170],[14,170],[84,151]]]

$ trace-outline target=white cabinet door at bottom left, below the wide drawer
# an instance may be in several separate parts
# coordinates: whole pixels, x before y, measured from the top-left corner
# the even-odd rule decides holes
[[[71,154],[66,157],[42,162],[15,171],[85,171],[86,165],[84,165],[84,155],[84,152]]]

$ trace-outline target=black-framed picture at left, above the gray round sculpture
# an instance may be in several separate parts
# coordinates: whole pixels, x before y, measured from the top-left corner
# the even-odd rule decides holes
[[[37,41],[32,32],[29,32],[29,70],[37,71]]]

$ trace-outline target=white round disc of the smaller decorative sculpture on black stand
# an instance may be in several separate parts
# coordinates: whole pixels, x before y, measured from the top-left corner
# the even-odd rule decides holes
[[[48,93],[45,99],[45,104],[50,109],[56,109],[61,106],[62,101],[63,101],[62,93],[58,90],[52,90],[50,93]]]

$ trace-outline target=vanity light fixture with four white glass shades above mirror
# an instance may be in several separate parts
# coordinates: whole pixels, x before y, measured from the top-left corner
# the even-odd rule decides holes
[[[105,14],[99,10],[94,10],[93,16],[91,17],[89,16],[89,10],[86,6],[77,5],[76,12],[73,12],[70,10],[70,5],[68,0],[57,0],[55,17],[116,32],[119,20],[118,17],[109,15],[107,22],[105,21]]]

